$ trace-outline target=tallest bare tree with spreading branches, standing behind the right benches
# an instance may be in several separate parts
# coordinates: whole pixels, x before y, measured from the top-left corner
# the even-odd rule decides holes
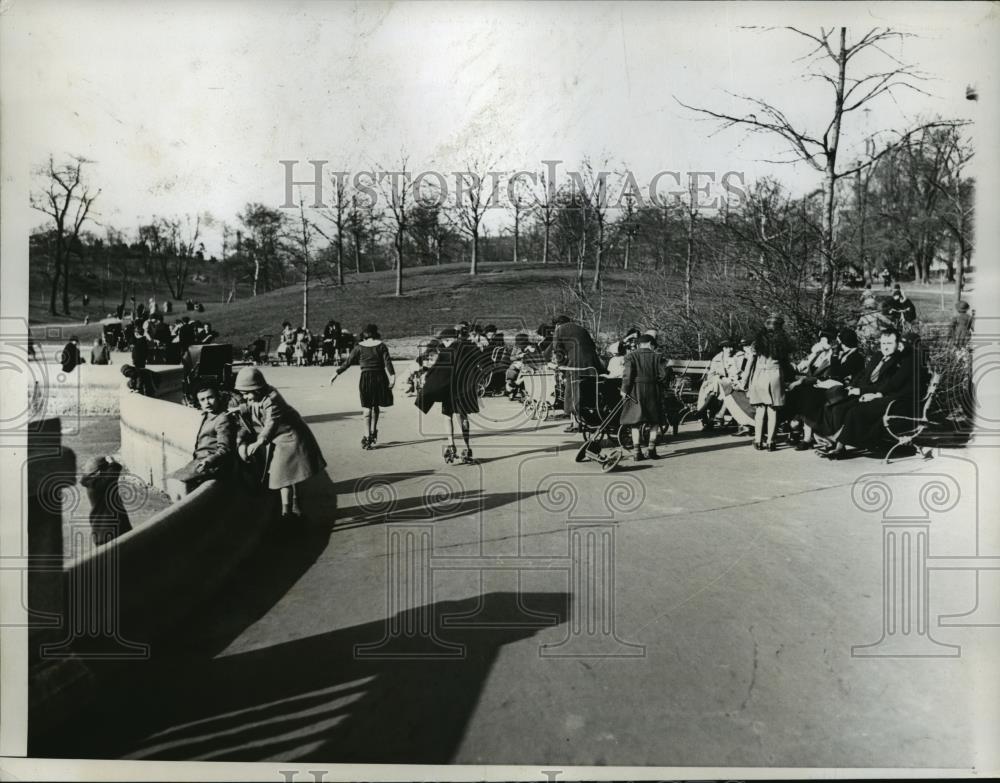
[[[882,96],[892,96],[900,89],[915,90],[923,93],[916,82],[922,80],[921,74],[911,65],[886,52],[883,48],[889,41],[900,41],[908,37],[888,28],[872,28],[852,43],[847,40],[847,28],[820,28],[818,33],[798,30],[794,27],[786,30],[801,36],[811,42],[814,48],[805,56],[813,70],[810,77],[821,79],[832,89],[832,105],[830,117],[825,127],[807,130],[792,123],[787,115],[778,107],[747,95],[736,95],[739,100],[748,104],[748,113],[743,116],[727,114],[711,109],[689,106],[678,101],[685,108],[698,112],[708,118],[717,120],[723,129],[740,126],[750,132],[775,134],[788,144],[792,157],[779,162],[804,161],[824,177],[824,206],[821,253],[823,257],[823,289],[821,309],[829,309],[830,298],[834,294],[835,269],[837,268],[837,247],[835,243],[835,210],[837,182],[844,177],[854,175],[859,166],[870,165],[884,154],[885,150],[874,155],[865,163],[838,166],[841,131],[844,119],[851,112],[872,103]],[[855,75],[856,59],[862,53],[881,53],[889,64],[885,70],[875,70]]]

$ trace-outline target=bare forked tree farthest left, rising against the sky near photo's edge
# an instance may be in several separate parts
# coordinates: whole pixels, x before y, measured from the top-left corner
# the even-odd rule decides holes
[[[90,215],[94,199],[100,189],[92,193],[83,181],[86,158],[76,156],[70,163],[56,164],[52,156],[48,163],[36,169],[36,176],[44,178],[39,191],[32,192],[31,206],[52,218],[55,223],[54,269],[49,292],[49,312],[56,315],[56,298],[62,281],[62,311],[69,315],[69,257],[78,252],[80,229]]]

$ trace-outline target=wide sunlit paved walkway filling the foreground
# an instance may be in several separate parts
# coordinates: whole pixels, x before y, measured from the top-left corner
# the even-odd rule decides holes
[[[936,573],[930,594],[932,632],[961,645],[960,657],[851,654],[879,639],[883,598],[880,516],[854,505],[852,484],[889,474],[902,497],[914,486],[906,474],[953,477],[961,498],[934,516],[931,546],[970,554],[982,479],[967,452],[888,468],[829,463],[691,426],[664,459],[605,475],[573,462],[579,440],[562,422],[536,426],[494,399],[475,433],[479,464],[447,466],[442,417],[419,416],[405,397],[384,416],[379,447],[360,450],[356,370],[333,388],[318,368],[265,372],[330,463],[307,499],[309,532],[265,547],[128,693],[103,700],[86,721],[99,730],[77,729],[52,752],[546,768],[976,764],[987,709],[976,672],[992,671],[997,629],[936,622],[973,607],[969,574]],[[608,519],[620,644],[598,634],[559,647],[572,638],[573,602],[597,600],[562,569],[568,523]],[[398,583],[387,582],[401,568],[390,531],[404,522],[433,531],[436,566],[485,555],[537,570],[440,569],[417,601],[433,607],[440,645],[380,648],[387,617],[404,632],[422,621],[394,613]],[[415,561],[429,554],[419,534]],[[391,655],[360,657],[365,644]],[[414,656],[462,646],[451,660]],[[549,657],[560,651],[621,657]]]

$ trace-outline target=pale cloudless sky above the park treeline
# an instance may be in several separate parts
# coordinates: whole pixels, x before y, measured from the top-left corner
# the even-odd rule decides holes
[[[154,215],[235,223],[284,197],[279,160],[330,170],[503,169],[584,155],[656,171],[772,174],[812,190],[774,138],[717,132],[678,103],[744,113],[734,94],[814,129],[830,91],[803,77],[808,42],[767,26],[911,34],[886,55],[930,77],[845,126],[867,132],[965,117],[968,84],[995,73],[996,7],[903,3],[14,3],[0,22],[4,144],[30,168],[82,155],[97,219],[133,232]],[[989,82],[993,84],[993,82]],[[37,215],[35,225],[42,222]],[[499,219],[499,218],[497,218]],[[217,237],[209,252],[217,251]]]

